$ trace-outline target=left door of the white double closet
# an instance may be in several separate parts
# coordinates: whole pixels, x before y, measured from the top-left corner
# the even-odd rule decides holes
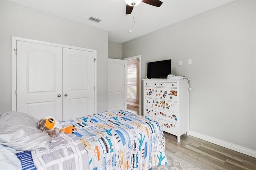
[[[16,111],[62,120],[62,48],[17,41],[16,61]]]

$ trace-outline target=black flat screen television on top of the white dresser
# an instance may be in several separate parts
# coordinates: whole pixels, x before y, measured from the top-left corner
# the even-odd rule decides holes
[[[167,78],[171,74],[172,60],[148,63],[148,78]]]

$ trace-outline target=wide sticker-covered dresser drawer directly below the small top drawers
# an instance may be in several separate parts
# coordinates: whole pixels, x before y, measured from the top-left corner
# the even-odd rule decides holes
[[[149,98],[177,102],[178,92],[177,89],[172,88],[145,87],[144,96]]]

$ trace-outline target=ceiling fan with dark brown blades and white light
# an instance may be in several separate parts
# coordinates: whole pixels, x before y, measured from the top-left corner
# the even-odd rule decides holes
[[[140,2],[144,2],[146,4],[160,7],[163,2],[160,0],[124,0],[126,2],[126,15],[131,14],[134,6],[140,4]]]

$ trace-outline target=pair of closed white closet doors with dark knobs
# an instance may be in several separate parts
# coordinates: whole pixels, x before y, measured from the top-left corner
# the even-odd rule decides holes
[[[16,111],[67,120],[94,113],[94,53],[17,41]]]

